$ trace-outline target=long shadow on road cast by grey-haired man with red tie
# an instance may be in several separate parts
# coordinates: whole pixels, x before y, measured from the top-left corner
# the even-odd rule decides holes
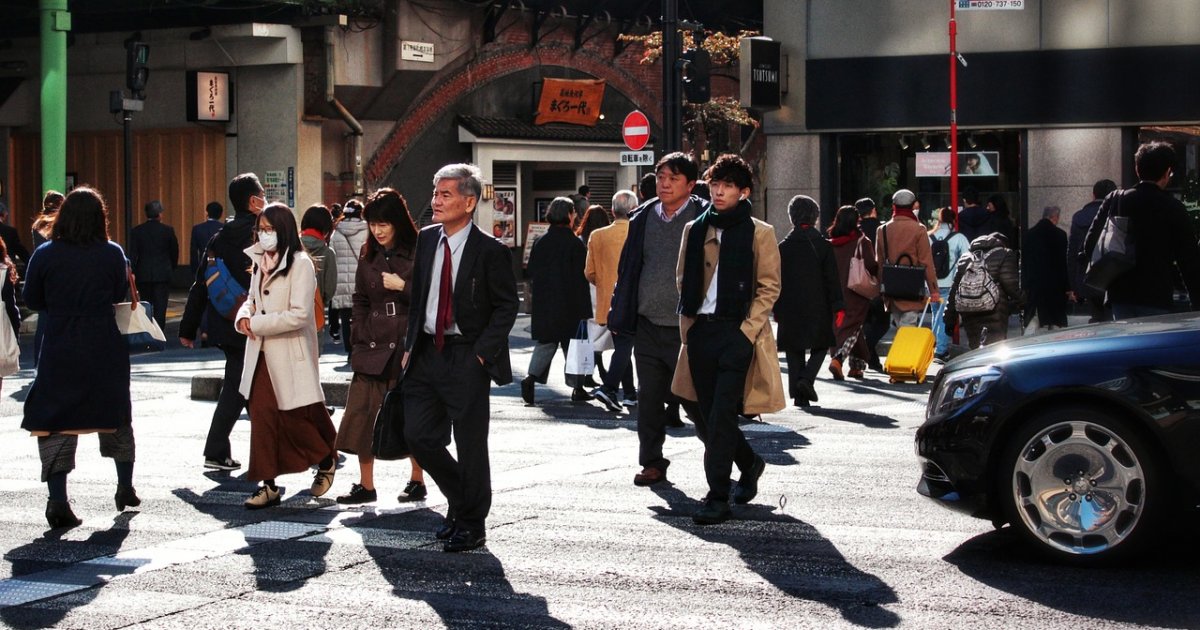
[[[390,530],[384,533],[389,541],[407,538],[415,545],[366,545],[396,596],[427,604],[446,628],[570,628],[551,616],[545,598],[516,592],[487,547],[444,553],[433,539],[440,524],[442,516],[432,510],[371,522],[372,529]]]

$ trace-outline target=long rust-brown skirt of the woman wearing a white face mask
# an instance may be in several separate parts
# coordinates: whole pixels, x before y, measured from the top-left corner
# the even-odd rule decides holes
[[[301,473],[330,455],[337,430],[325,404],[314,402],[296,409],[280,410],[266,371],[266,358],[258,356],[250,385],[250,468],[246,479],[262,481]]]

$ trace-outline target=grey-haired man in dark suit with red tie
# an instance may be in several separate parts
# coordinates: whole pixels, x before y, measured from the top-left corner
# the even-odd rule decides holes
[[[473,164],[450,164],[433,176],[434,224],[416,240],[404,342],[404,438],[449,503],[436,534],[446,552],[487,541],[488,380],[512,382],[512,254],[472,222],[482,188]],[[451,431],[457,461],[446,448]]]

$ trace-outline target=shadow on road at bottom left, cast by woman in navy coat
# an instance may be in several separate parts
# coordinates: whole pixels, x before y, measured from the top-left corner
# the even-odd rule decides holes
[[[64,540],[67,529],[52,529],[41,539],[4,554],[12,564],[12,577],[0,582],[0,601],[28,600],[0,608],[0,622],[7,628],[50,628],[72,610],[86,606],[114,576],[132,574],[137,565],[120,560],[106,562],[121,551],[130,535],[130,521],[138,512],[121,512],[113,526],[88,535],[85,540]],[[61,596],[67,595],[67,596]],[[41,599],[56,598],[53,606],[38,606]]]

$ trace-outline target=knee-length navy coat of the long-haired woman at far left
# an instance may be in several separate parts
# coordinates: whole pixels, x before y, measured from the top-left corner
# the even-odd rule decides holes
[[[25,269],[25,304],[46,318],[37,376],[25,398],[26,431],[127,426],[130,350],[113,305],[128,289],[115,242],[48,241]]]

